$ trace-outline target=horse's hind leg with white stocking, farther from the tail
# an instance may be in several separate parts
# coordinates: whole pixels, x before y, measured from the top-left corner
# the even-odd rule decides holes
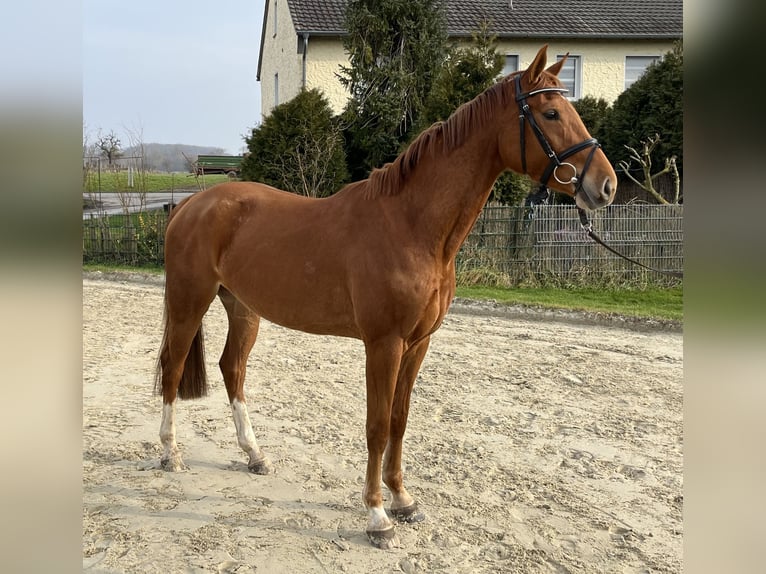
[[[269,474],[273,466],[255,441],[244,392],[247,358],[258,336],[260,317],[223,287],[219,290],[218,296],[229,317],[229,333],[219,366],[229,395],[234,426],[237,429],[237,442],[250,457],[247,463],[250,472]]]

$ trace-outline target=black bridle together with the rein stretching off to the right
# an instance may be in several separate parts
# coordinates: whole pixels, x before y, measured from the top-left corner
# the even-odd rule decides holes
[[[515,77],[515,82],[516,82],[516,85],[515,85],[516,101],[519,104],[519,122],[520,122],[519,133],[521,134],[521,169],[524,173],[527,173],[527,156],[526,156],[526,139],[525,139],[526,122],[529,123],[529,127],[532,129],[532,133],[535,134],[537,141],[540,142],[540,146],[543,148],[545,155],[547,155],[550,158],[550,162],[548,163],[548,166],[545,168],[545,171],[543,172],[543,175],[540,178],[540,188],[533,195],[530,195],[529,197],[527,197],[527,200],[526,200],[527,206],[531,208],[526,218],[527,225],[528,225],[529,221],[532,219],[532,217],[534,217],[535,206],[548,203],[548,197],[550,196],[550,191],[548,190],[548,180],[551,178],[551,176],[553,176],[553,178],[562,185],[574,183],[575,195],[577,195],[580,191],[582,191],[582,184],[583,184],[583,179],[585,178],[585,172],[588,171],[588,167],[590,167],[590,163],[593,160],[593,155],[596,153],[596,150],[599,147],[601,147],[601,144],[598,143],[598,140],[596,138],[590,138],[565,149],[560,154],[557,154],[555,151],[553,151],[551,144],[549,144],[548,140],[545,138],[545,134],[543,133],[543,130],[540,129],[540,126],[535,120],[535,117],[532,115],[532,110],[529,109],[527,98],[529,98],[530,96],[534,96],[536,94],[543,93],[543,92],[559,92],[563,94],[568,92],[569,90],[567,90],[566,88],[551,87],[551,88],[540,88],[537,90],[531,90],[529,92],[522,92],[521,91],[521,74]],[[588,158],[585,160],[585,165],[582,168],[582,172],[580,173],[580,176],[578,177],[577,168],[571,163],[563,161],[563,160],[589,147],[592,149],[590,150],[590,153],[588,154]],[[572,170],[572,176],[569,178],[569,181],[564,181],[560,179],[558,174],[556,173],[557,170],[562,166],[567,166]],[[588,234],[588,237],[590,237],[591,239],[593,239],[593,241],[605,247],[606,249],[608,249],[615,255],[618,255],[622,257],[623,259],[625,259],[626,261],[630,261],[631,263],[634,263],[635,265],[639,265],[643,267],[644,269],[649,269],[650,271],[656,271],[657,273],[664,273],[666,275],[670,275],[673,277],[683,277],[683,273],[649,267],[648,265],[644,265],[640,261],[631,259],[627,255],[623,255],[619,251],[613,249],[612,247],[604,243],[604,240],[601,239],[601,237],[599,237],[598,234],[593,230],[593,224],[591,223],[590,218],[588,217],[588,212],[582,209],[579,205],[577,206],[577,212],[580,216],[580,224],[582,225],[582,228],[585,230],[585,232]]]

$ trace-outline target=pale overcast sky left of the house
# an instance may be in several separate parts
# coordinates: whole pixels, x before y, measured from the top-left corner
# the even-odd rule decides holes
[[[240,153],[260,122],[264,0],[83,0],[88,132]]]

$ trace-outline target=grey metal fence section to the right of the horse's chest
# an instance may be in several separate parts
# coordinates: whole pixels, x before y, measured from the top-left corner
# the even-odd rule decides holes
[[[683,271],[682,205],[611,205],[591,214],[611,247],[644,265]],[[503,286],[669,286],[680,279],[641,268],[596,244],[571,205],[488,205],[457,258],[459,283]]]

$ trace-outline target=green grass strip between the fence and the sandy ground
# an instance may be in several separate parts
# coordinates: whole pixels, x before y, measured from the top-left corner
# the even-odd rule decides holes
[[[83,265],[86,271],[126,271],[162,273],[159,267],[119,267]],[[567,309],[623,315],[643,319],[683,321],[683,288],[646,289],[557,289],[458,287],[457,296],[473,300],[493,300],[500,304],[526,305],[548,309]]]

